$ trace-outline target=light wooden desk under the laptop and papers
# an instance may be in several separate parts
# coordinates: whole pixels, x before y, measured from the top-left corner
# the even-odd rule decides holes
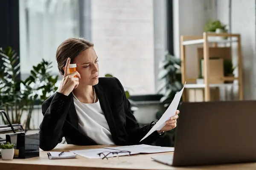
[[[70,144],[58,144],[52,151],[68,151],[82,150],[92,148],[102,148],[105,146],[75,146]],[[152,155],[172,155],[169,153],[155,153],[133,155],[128,158],[125,163],[111,164],[104,163],[102,159],[87,159],[82,156],[77,156],[76,159],[54,159],[50,160],[47,157],[47,152],[41,151],[40,157],[29,159],[13,159],[3,161],[0,159],[0,170],[255,170],[256,163],[247,164],[230,164],[230,165],[214,165],[202,167],[171,167],[165,164],[160,164],[151,159]]]

